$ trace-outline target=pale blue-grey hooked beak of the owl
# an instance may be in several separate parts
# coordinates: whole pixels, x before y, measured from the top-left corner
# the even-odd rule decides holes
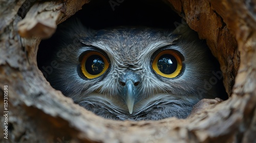
[[[133,82],[131,80],[127,81],[124,88],[126,88],[125,102],[127,104],[129,113],[132,114],[135,101],[135,91]]]

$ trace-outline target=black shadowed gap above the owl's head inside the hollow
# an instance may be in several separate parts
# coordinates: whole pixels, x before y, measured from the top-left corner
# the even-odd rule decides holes
[[[162,1],[99,1],[84,5],[75,14],[84,25],[93,29],[116,26],[175,28],[180,16]]]

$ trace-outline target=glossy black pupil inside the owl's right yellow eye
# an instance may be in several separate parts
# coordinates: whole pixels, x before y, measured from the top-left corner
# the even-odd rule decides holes
[[[177,69],[178,63],[173,55],[162,55],[157,62],[159,70],[166,75],[173,74]]]

